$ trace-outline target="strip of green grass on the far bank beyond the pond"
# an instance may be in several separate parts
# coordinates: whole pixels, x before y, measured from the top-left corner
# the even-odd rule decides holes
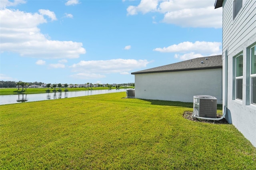
[[[134,88],[134,87],[120,87],[120,89],[129,89],[129,88]],[[108,87],[92,87],[91,88],[84,88],[84,87],[81,87],[81,88],[67,88],[67,89],[59,89],[59,88],[56,88],[56,91],[86,91],[86,90],[106,90],[108,89]],[[115,90],[116,87],[112,87],[112,90]],[[23,93],[23,94],[36,94],[36,93],[48,93],[48,92],[53,92],[54,89],[48,89],[48,88],[27,88],[27,89],[23,89],[20,88],[18,90],[18,88],[0,88],[0,95],[16,95],[16,94],[20,94],[20,93]]]

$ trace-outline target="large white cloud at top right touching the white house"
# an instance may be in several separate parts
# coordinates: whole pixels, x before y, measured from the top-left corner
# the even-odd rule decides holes
[[[182,27],[222,28],[222,8],[214,9],[210,0],[141,0],[126,10],[127,15],[159,12],[162,22]]]

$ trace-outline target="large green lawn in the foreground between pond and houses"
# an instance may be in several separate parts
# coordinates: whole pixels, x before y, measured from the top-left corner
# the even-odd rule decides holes
[[[255,169],[256,148],[233,125],[125,96],[1,105],[0,169]]]

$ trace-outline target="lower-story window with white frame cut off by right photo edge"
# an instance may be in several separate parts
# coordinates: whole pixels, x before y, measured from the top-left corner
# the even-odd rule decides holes
[[[256,46],[251,48],[251,85],[252,103],[256,104]]]

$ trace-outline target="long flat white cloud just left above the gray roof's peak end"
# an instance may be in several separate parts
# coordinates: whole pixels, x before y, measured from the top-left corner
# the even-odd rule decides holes
[[[70,66],[74,72],[82,73],[122,73],[132,69],[146,67],[147,60],[111,59],[98,61],[80,61]]]

